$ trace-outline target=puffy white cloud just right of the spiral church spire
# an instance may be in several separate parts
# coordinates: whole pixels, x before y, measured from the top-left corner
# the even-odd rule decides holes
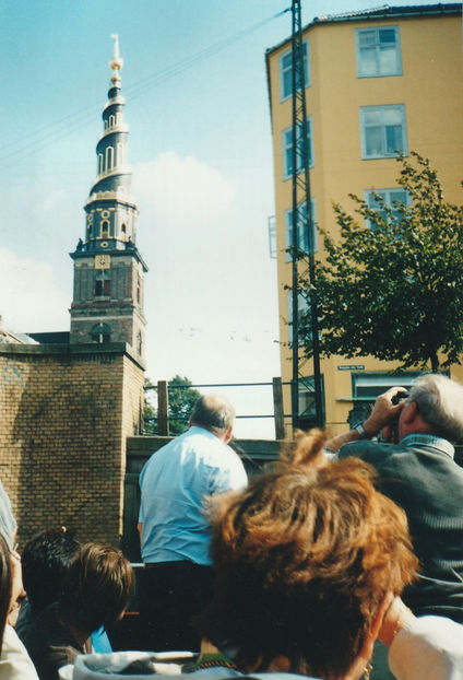
[[[216,168],[168,151],[136,165],[133,192],[156,221],[191,224],[213,222],[227,213],[235,189]]]

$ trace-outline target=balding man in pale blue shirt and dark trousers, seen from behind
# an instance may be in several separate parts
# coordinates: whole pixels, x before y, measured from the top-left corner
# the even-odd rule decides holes
[[[190,429],[153,454],[140,476],[140,614],[152,649],[197,648],[191,628],[212,595],[207,502],[247,484],[232,439],[235,409],[214,395],[198,399]]]

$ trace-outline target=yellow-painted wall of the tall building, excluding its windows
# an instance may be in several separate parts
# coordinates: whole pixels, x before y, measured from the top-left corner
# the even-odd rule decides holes
[[[355,30],[369,26],[399,26],[403,75],[357,78]],[[317,222],[336,234],[332,201],[352,209],[348,194],[363,198],[372,188],[393,188],[399,164],[393,159],[361,160],[359,107],[404,104],[408,150],[430,159],[438,169],[446,199],[462,202],[463,173],[463,66],[461,17],[432,16],[368,22],[337,22],[311,26],[309,38],[310,86],[306,89],[307,113],[312,117],[313,168],[311,195]],[[268,56],[271,83],[271,113],[275,168],[275,215],[278,250],[278,304],[281,316],[282,377],[292,377],[288,340],[287,293],[292,267],[285,261],[284,211],[292,207],[292,180],[283,180],[282,131],[292,125],[290,99],[280,101],[278,57],[290,47],[282,45]],[[318,236],[318,256],[322,257]],[[349,372],[340,364],[364,364],[366,371],[389,371],[392,364],[372,359],[322,361],[327,396],[327,420],[342,430],[352,402]],[[311,375],[310,362],[301,362],[304,375]],[[460,367],[454,371],[459,374]],[[289,390],[285,412],[290,411]]]

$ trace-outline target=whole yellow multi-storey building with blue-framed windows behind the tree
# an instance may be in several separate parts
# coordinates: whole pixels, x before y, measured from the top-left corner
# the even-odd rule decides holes
[[[304,31],[310,189],[316,223],[335,234],[332,201],[353,208],[348,194],[373,201],[406,201],[395,184],[394,151],[414,150],[439,172],[446,199],[461,203],[463,178],[462,4],[381,8],[314,19]],[[272,119],[283,383],[292,379],[292,43],[266,51]],[[372,203],[371,203],[372,204]],[[302,235],[300,235],[302,236]],[[316,234],[317,257],[322,257]],[[317,243],[318,242],[318,243]],[[299,243],[299,247],[301,244]],[[289,305],[290,307],[290,305]],[[342,432],[348,414],[391,384],[406,386],[416,372],[391,376],[392,363],[342,356],[321,361],[325,422]],[[301,426],[313,414],[311,361],[301,360]],[[463,377],[461,366],[451,374]],[[290,413],[289,387],[284,410]],[[289,421],[286,421],[289,424]]]

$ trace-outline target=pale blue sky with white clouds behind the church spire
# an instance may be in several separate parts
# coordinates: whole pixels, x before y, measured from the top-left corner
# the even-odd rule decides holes
[[[372,0],[302,2],[313,16]],[[390,2],[389,4],[401,4]],[[402,4],[419,4],[413,0]],[[194,383],[280,374],[265,48],[289,0],[0,0],[0,314],[68,330],[72,261],[95,179],[119,34],[129,160],[146,277],[147,375]],[[246,392],[246,397],[242,392]],[[270,389],[235,390],[271,412]],[[272,435],[269,421],[241,436]]]

